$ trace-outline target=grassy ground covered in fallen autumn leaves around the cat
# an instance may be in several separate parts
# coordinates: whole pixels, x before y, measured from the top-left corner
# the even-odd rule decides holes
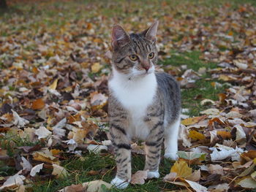
[[[124,191],[255,190],[255,1],[8,4],[0,13],[1,191],[119,191],[109,184],[105,52],[114,23],[140,31],[154,20],[157,68],[182,88],[179,159],[162,158],[161,177],[144,180],[143,142],[132,144]]]

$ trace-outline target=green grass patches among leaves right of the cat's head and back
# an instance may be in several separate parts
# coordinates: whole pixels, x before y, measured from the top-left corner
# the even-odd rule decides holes
[[[165,66],[181,66],[187,65],[187,69],[193,69],[195,72],[202,67],[206,69],[214,69],[217,67],[217,64],[206,63],[200,60],[200,53],[197,51],[187,52],[187,53],[171,53],[171,57],[165,61],[162,61],[162,65]],[[226,85],[223,85],[222,88],[214,88],[211,85],[211,82],[219,82],[217,80],[211,80],[211,74],[206,72],[195,82],[195,88],[182,88],[182,107],[189,109],[187,115],[197,116],[200,115],[200,112],[209,108],[209,106],[202,106],[200,101],[203,99],[211,99],[217,101],[218,93],[222,93],[227,88]],[[197,99],[200,98],[200,99]]]

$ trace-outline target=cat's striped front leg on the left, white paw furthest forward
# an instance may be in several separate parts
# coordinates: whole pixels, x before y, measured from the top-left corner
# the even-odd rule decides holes
[[[121,123],[110,124],[110,136],[115,147],[116,177],[111,181],[117,188],[127,188],[131,180],[131,146]]]

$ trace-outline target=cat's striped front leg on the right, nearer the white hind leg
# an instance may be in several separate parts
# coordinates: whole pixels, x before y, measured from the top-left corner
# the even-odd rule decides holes
[[[152,120],[150,133],[145,143],[146,164],[144,170],[148,170],[148,179],[159,178],[159,162],[164,128],[161,119]]]

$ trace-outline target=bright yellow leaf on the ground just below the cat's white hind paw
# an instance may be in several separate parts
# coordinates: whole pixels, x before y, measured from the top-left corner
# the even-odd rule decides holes
[[[192,168],[190,168],[185,161],[176,161],[170,169],[170,172],[176,172],[178,177],[185,178],[192,174]]]

